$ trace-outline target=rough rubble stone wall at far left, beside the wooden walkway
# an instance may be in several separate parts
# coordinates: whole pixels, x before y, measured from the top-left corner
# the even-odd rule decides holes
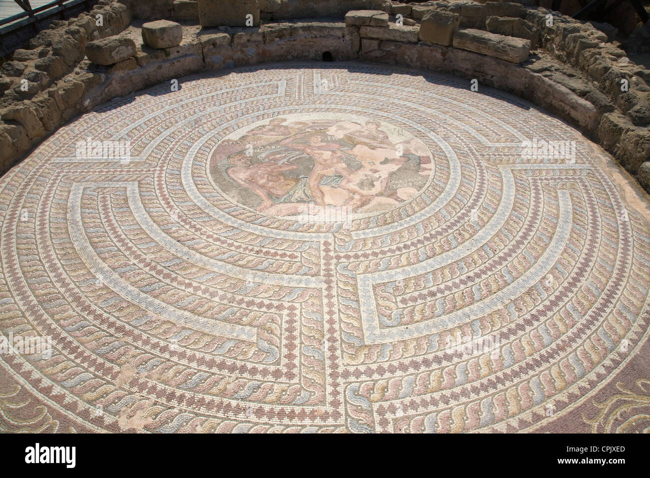
[[[86,43],[118,34],[129,23],[131,11],[127,6],[100,0],[77,18],[53,21],[49,29],[29,41],[26,49],[17,49],[12,59],[3,63],[0,172],[45,135],[87,111],[80,100],[97,78],[90,72],[75,74],[85,58]]]

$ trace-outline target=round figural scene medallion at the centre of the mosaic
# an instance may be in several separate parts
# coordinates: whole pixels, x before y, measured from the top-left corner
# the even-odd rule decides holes
[[[263,120],[218,142],[211,176],[241,206],[276,217],[359,217],[413,198],[431,153],[406,129],[362,116],[294,114]]]

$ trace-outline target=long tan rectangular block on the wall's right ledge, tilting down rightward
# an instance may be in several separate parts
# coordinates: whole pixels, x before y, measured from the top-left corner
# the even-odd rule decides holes
[[[454,47],[482,55],[521,63],[528,59],[530,41],[480,30],[459,30],[454,35]]]

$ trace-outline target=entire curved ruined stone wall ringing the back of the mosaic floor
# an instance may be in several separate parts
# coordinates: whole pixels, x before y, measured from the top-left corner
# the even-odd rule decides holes
[[[532,101],[599,142],[650,191],[650,72],[632,64],[590,23],[554,14],[548,25],[551,12],[514,3],[383,2],[374,12],[347,12],[345,21],[201,28],[186,8],[190,19],[181,43],[155,49],[142,42],[142,22],[131,24],[132,15],[150,12],[123,2],[100,0],[89,14],[40,33],[30,49],[17,50],[3,66],[1,170],[73,116],[135,90],[195,72],[320,60],[330,52],[334,60],[359,58],[477,79]],[[164,5],[180,11],[178,1],[161,1],[159,7]],[[90,21],[100,10],[108,20],[101,28]],[[400,25],[397,14],[404,17]],[[96,63],[86,58],[91,40],[88,57]],[[100,55],[102,49],[113,59]],[[23,79],[27,90],[20,87]]]

